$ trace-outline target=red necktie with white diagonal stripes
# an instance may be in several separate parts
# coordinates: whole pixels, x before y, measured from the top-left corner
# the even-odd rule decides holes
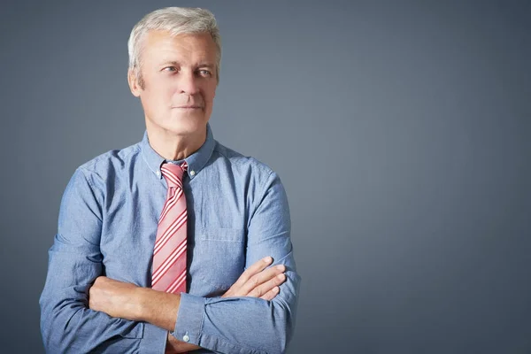
[[[168,184],[168,193],[160,218],[153,250],[151,288],[168,293],[186,292],[186,197],[182,174],[188,165],[164,164],[160,168]]]

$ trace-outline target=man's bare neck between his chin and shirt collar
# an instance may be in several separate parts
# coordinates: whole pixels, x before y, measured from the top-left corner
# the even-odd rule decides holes
[[[182,160],[199,150],[206,140],[206,129],[192,135],[176,135],[163,129],[147,127],[153,150],[166,160]]]

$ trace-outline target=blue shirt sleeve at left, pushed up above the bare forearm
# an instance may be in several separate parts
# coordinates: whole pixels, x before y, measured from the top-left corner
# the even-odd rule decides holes
[[[61,201],[58,234],[49,251],[41,331],[49,353],[164,353],[167,332],[89,309],[89,288],[103,274],[99,247],[104,189],[81,167]]]

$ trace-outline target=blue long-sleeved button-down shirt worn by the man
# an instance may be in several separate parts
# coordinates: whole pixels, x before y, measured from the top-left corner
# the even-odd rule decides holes
[[[216,142],[186,158],[188,293],[173,335],[201,353],[281,353],[293,334],[300,277],[290,241],[289,206],[276,173]],[[81,165],[61,201],[40,299],[50,353],[164,353],[167,331],[112,318],[88,307],[99,275],[150,287],[158,216],[165,203],[165,162],[142,142]],[[167,161],[180,163],[181,161]],[[272,301],[220,297],[243,270],[272,256],[287,281]]]

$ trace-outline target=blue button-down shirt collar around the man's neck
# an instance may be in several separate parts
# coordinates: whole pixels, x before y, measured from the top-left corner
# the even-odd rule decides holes
[[[206,165],[208,160],[211,158],[215,144],[216,141],[214,140],[214,136],[212,135],[212,128],[210,127],[210,124],[207,123],[206,140],[204,141],[203,145],[201,145],[201,148],[199,148],[199,150],[197,150],[184,160],[166,160],[165,158],[158,155],[157,151],[151,148],[147,131],[144,132],[142,142],[140,142],[140,149],[142,150],[143,160],[146,162],[151,172],[154,173],[159,179],[162,178],[162,173],[160,173],[160,166],[163,163],[169,162],[173,164],[181,164],[182,161],[186,161],[186,163],[189,165],[189,178],[190,180],[193,180],[196,177],[197,173],[201,172],[204,165]]]

